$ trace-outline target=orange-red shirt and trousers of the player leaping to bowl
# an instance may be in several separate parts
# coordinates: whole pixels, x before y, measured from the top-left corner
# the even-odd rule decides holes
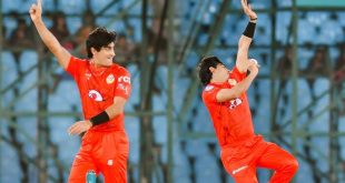
[[[203,91],[203,100],[220,144],[221,162],[237,183],[256,183],[257,166],[275,171],[270,183],[287,183],[297,171],[298,162],[287,151],[254,133],[247,94],[217,102],[218,91],[231,89],[245,78],[246,73],[240,73],[235,67],[228,82],[209,83]]]

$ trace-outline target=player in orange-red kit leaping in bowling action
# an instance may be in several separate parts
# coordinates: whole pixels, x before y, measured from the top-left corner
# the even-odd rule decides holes
[[[236,65],[229,71],[217,57],[201,59],[198,69],[205,85],[203,100],[220,144],[224,167],[237,183],[257,183],[258,166],[275,171],[270,183],[288,183],[298,169],[297,160],[254,132],[246,91],[259,69],[256,60],[248,59],[257,14],[246,0],[241,6],[249,22],[238,42]]]

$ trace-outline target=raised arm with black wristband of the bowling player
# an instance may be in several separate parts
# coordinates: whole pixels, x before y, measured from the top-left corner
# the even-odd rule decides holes
[[[249,18],[248,26],[238,41],[238,51],[236,67],[240,72],[246,72],[250,62],[248,62],[248,50],[255,32],[257,16],[248,6],[247,0],[240,0],[244,12]]]

